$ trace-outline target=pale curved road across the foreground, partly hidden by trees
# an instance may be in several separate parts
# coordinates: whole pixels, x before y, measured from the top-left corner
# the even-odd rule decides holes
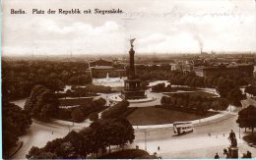
[[[19,103],[24,104],[21,101]],[[229,145],[227,136],[230,130],[233,130],[236,137],[239,137],[236,119],[237,115],[233,115],[221,122],[196,127],[193,133],[183,135],[174,135],[171,128],[155,131],[135,130],[134,143],[127,147],[135,148],[135,145],[139,145],[140,148],[147,149],[150,153],[157,152],[162,158],[213,158],[216,152],[224,158],[223,149]],[[76,126],[77,124],[75,128]],[[77,128],[81,126],[82,124]],[[32,146],[42,147],[47,141],[63,137],[67,133],[69,133],[69,128],[63,125],[44,124],[33,120],[29,133],[20,137],[20,140],[24,141],[24,146],[12,158],[26,158]],[[243,131],[241,131],[241,137],[242,134]],[[239,138],[238,146],[239,155],[247,150],[250,150],[252,155],[256,155],[256,149],[249,147]]]

